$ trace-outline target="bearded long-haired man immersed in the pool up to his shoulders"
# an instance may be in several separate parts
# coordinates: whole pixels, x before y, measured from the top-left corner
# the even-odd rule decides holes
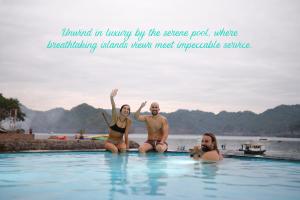
[[[204,133],[201,145],[195,146],[194,149],[190,149],[190,152],[190,156],[195,160],[218,161],[223,159],[223,156],[218,149],[217,138],[213,133]]]

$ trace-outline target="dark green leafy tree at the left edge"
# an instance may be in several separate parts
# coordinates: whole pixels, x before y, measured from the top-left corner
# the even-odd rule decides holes
[[[11,117],[16,112],[16,120],[24,121],[25,113],[21,111],[20,102],[18,99],[5,98],[0,93],[0,122]]]

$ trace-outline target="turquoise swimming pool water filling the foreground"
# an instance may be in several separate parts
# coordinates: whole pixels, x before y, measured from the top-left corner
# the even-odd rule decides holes
[[[0,154],[0,199],[298,199],[300,162],[185,153]]]

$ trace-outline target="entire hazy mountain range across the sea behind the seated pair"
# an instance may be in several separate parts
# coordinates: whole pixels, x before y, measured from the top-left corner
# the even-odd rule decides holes
[[[39,133],[76,133],[84,129],[87,133],[107,132],[102,113],[110,119],[110,110],[80,104],[71,110],[55,108],[49,111],[34,111],[24,105],[26,114],[20,128],[32,128]],[[145,114],[145,113],[144,113]],[[218,114],[199,110],[177,110],[161,113],[169,120],[170,134],[201,134],[214,132],[217,135],[232,136],[280,136],[300,137],[300,105],[280,105],[256,114],[251,111],[226,112]],[[145,133],[143,123],[134,120],[131,133]]]

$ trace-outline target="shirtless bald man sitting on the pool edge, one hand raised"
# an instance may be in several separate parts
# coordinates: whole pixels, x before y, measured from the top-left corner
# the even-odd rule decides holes
[[[167,119],[159,114],[159,105],[154,102],[150,106],[152,115],[141,115],[140,112],[147,102],[143,102],[140,108],[134,114],[138,121],[145,122],[148,131],[148,139],[139,147],[140,153],[146,153],[150,150],[163,153],[168,149],[167,138],[169,135],[169,125]]]

